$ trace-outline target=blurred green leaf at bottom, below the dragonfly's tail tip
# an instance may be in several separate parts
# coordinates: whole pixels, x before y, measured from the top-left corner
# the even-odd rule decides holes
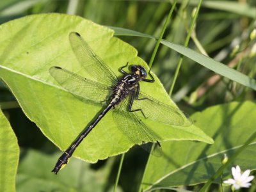
[[[72,159],[58,176],[52,174],[51,166],[60,153],[45,154],[36,150],[21,150],[17,173],[17,189],[27,191],[104,191],[114,159],[99,170],[80,159]]]

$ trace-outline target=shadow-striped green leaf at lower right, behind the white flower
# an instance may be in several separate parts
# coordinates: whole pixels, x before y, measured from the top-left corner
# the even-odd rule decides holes
[[[213,145],[191,141],[163,143],[166,157],[150,157],[143,179],[144,189],[187,186],[207,181],[218,168],[224,154],[232,156],[255,132],[255,102],[232,102],[205,109],[191,116],[212,138]],[[232,165],[242,170],[256,169],[256,140],[251,143]],[[231,168],[223,172],[223,179],[231,178]],[[220,183],[220,179],[215,180]]]

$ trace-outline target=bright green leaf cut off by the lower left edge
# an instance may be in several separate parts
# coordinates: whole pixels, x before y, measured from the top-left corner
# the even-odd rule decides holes
[[[15,191],[18,163],[18,141],[0,109],[0,191]]]

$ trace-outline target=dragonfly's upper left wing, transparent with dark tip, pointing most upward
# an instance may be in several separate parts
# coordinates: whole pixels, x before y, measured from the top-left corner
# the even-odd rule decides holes
[[[69,40],[77,60],[93,80],[108,85],[112,85],[118,80],[115,73],[92,51],[92,48],[79,33],[71,32]]]

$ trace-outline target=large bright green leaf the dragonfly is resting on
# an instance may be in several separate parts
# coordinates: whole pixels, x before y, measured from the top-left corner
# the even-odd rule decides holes
[[[52,24],[54,22],[54,24]],[[62,150],[65,150],[102,109],[77,100],[50,76],[49,68],[60,66],[81,76],[68,41],[77,31],[92,49],[120,76],[118,68],[130,63],[147,67],[131,45],[113,37],[113,31],[77,16],[32,15],[1,26],[0,76],[8,84],[24,113]],[[148,68],[147,68],[148,69]],[[156,83],[142,83],[141,90],[175,106],[156,76]],[[106,159],[129,150],[133,143],[120,132],[109,112],[78,147],[74,156],[89,162]],[[195,125],[170,127],[147,119],[145,123],[162,140],[197,140],[212,143]],[[118,144],[118,145],[117,145]]]

